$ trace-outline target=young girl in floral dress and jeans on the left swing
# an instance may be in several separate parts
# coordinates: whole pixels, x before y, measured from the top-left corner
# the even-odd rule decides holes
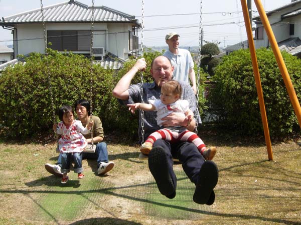
[[[61,172],[63,173],[61,182],[66,183],[69,179],[67,173],[70,172],[72,155],[74,158],[74,172],[78,173],[77,178],[81,179],[85,176],[82,173],[81,152],[87,146],[87,140],[82,133],[90,132],[93,121],[87,123],[87,126],[84,127],[81,121],[74,119],[74,112],[70,105],[62,106],[58,111],[58,115],[61,121],[53,124],[53,130],[61,134],[59,139],[59,149],[62,153]]]

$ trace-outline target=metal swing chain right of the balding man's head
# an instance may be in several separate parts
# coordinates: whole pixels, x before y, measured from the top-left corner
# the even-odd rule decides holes
[[[201,64],[201,47],[202,47],[202,0],[200,0],[200,23],[199,23],[199,51],[198,51],[198,75],[197,75],[197,111],[196,111],[196,133],[198,133],[198,120],[199,120],[199,95],[200,95],[200,64]]]

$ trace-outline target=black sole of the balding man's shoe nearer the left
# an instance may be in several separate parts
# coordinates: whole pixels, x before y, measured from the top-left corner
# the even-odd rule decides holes
[[[173,195],[175,186],[169,174],[167,157],[162,147],[156,146],[149,152],[148,168],[156,180],[159,191],[166,196]]]

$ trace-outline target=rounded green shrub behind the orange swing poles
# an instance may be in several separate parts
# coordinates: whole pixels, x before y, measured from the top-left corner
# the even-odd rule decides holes
[[[256,50],[266,114],[271,138],[283,138],[299,132],[283,78],[270,49]],[[296,94],[301,96],[301,64],[295,56],[282,52]],[[263,132],[252,62],[248,49],[223,57],[213,76],[216,84],[210,102],[216,110],[217,124],[237,135]]]

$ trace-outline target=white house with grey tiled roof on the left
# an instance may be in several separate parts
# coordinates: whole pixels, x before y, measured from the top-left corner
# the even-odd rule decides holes
[[[95,59],[108,60],[103,64],[112,64],[115,68],[112,60],[117,58],[122,62],[138,52],[140,23],[135,16],[106,6],[94,6],[93,14],[92,23],[91,6],[68,0],[43,8],[45,31],[41,8],[3,17],[0,25],[13,31],[15,58],[33,51],[45,53],[44,36],[47,47],[87,56],[93,39]]]

